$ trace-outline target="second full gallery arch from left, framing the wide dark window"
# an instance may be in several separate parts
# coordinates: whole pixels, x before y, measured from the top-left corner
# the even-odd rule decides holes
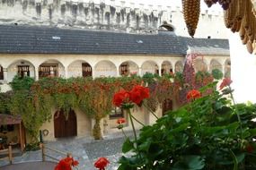
[[[39,66],[39,78],[43,77],[65,77],[64,65],[56,59],[44,61]]]

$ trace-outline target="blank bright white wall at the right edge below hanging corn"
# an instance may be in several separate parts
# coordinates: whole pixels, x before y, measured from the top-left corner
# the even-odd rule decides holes
[[[250,55],[238,34],[230,33],[231,78],[237,102],[256,102],[256,56]]]

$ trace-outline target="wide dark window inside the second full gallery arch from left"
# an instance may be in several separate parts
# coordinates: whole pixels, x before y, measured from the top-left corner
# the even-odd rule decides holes
[[[57,64],[42,64],[39,69],[39,78],[43,77],[57,77],[58,67]]]

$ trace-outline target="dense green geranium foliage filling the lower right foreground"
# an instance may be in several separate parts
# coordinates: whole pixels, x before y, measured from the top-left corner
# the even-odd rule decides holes
[[[210,95],[191,101],[127,139],[119,170],[256,169],[256,105],[230,105],[216,82],[201,89]],[[239,121],[239,118],[241,121]]]

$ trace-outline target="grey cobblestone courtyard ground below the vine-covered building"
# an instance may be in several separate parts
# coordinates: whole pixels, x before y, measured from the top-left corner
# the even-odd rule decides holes
[[[128,132],[131,135],[131,132]],[[93,163],[98,157],[107,157],[110,160],[110,165],[106,170],[116,170],[119,166],[118,160],[121,154],[121,146],[124,141],[124,137],[121,133],[114,133],[109,136],[105,136],[104,140],[93,140],[92,138],[81,138],[81,139],[64,139],[57,141],[46,141],[47,147],[64,152],[71,152],[75,160],[79,161],[79,170],[95,170]],[[64,157],[61,154],[46,149],[46,152],[51,157],[61,159]],[[50,161],[50,158],[47,158]],[[23,153],[22,157],[14,157],[13,164],[22,162],[41,161],[41,150],[29,151]],[[8,162],[1,160],[1,166],[7,165]]]

